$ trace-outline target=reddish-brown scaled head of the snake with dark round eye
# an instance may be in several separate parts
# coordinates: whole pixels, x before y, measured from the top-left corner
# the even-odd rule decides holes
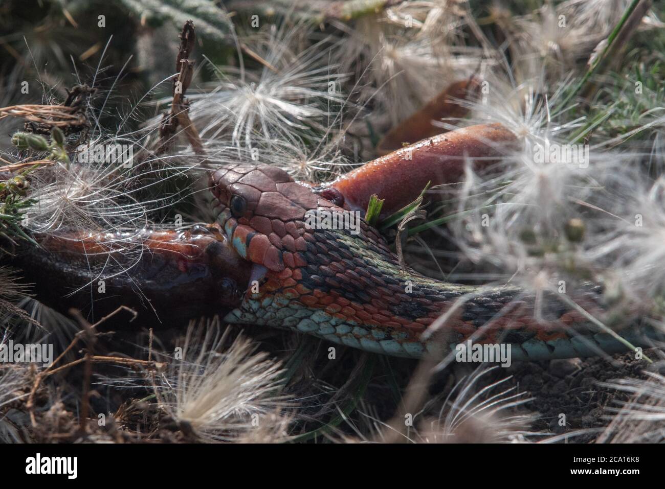
[[[218,202],[217,223],[235,250],[273,272],[293,267],[293,254],[306,250],[305,213],[319,196],[277,167],[239,164],[210,173]]]

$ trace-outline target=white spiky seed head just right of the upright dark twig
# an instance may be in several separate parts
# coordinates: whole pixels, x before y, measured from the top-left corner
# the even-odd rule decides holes
[[[327,120],[344,104],[346,76],[330,62],[330,39],[295,49],[306,34],[303,25],[285,21],[242,39],[263,60],[258,72],[213,66],[219,81],[188,95],[190,118],[201,137],[230,134],[235,146],[255,147],[257,134],[294,141],[325,132]]]

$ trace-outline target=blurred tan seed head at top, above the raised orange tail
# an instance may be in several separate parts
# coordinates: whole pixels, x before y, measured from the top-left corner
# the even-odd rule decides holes
[[[432,12],[435,4],[440,5],[428,3],[427,11]],[[448,16],[456,19],[450,21],[451,26],[456,26],[454,29],[443,27],[443,19]],[[435,17],[438,23],[432,20]],[[442,42],[441,36],[456,39],[459,16],[442,7],[435,17],[423,23],[426,14],[408,13],[405,5],[404,10],[388,10],[388,17],[377,14],[357,19],[352,28],[336,26],[346,35],[336,45],[334,59],[342,72],[354,74],[363,87],[362,102],[371,100],[376,104],[376,124],[385,124],[381,116],[392,126],[398,124],[445,86],[468,78],[477,68],[481,49],[458,49]],[[422,21],[406,27],[410,25],[407,21],[418,18]]]

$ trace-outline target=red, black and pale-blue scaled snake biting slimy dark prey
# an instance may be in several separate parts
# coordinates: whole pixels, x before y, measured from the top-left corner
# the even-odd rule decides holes
[[[311,227],[308,212],[348,211],[281,169],[239,164],[210,179],[217,223],[257,272],[227,322],[289,328],[398,357],[422,357],[469,339],[510,343],[515,360],[626,351],[561,301],[541,301],[547,307],[536,315],[535,298],[518,287],[452,284],[400,267],[362,219],[357,232]],[[575,299],[598,311],[601,297],[599,286],[589,286]],[[424,334],[447,311],[441,334]],[[643,345],[652,333],[631,326],[622,336]]]

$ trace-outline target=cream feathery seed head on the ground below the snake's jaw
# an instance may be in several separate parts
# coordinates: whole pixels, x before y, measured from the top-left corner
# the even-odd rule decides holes
[[[174,359],[157,387],[164,409],[208,442],[249,436],[253,416],[260,426],[260,417],[285,405],[279,395],[279,363],[265,353],[254,353],[242,338],[219,351],[224,340],[216,321],[201,322],[198,329],[190,324],[182,361]]]

